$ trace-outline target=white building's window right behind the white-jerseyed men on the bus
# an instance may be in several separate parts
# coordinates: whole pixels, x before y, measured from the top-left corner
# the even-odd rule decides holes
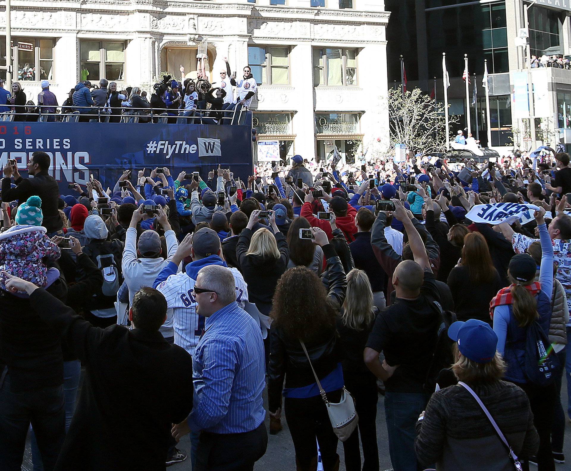
[[[288,85],[288,47],[248,46],[248,63],[258,85]]]

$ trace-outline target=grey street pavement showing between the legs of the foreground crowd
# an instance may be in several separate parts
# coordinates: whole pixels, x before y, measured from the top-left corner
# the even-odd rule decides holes
[[[564,410],[566,410],[567,399],[566,399],[566,385],[565,383],[561,388],[561,401]],[[264,392],[264,402],[267,401],[266,393]],[[267,404],[267,402],[266,402]],[[266,408],[267,409],[267,408]],[[291,435],[287,428],[286,419],[282,414],[282,424],[284,429],[277,435],[268,435],[268,449],[266,454],[259,460],[254,469],[259,471],[295,471],[295,452],[293,451],[293,442],[291,441]],[[270,420],[266,420],[266,426],[268,430],[270,429]],[[391,458],[389,457],[388,450],[388,439],[387,439],[387,426],[385,425],[385,409],[383,396],[379,396],[379,405],[377,406],[377,441],[379,442],[379,462],[380,471],[390,471]],[[185,451],[190,450],[190,440],[188,436],[183,437],[180,440],[179,448]],[[571,471],[571,422],[567,421],[565,425],[565,444],[563,450],[567,462],[564,465],[556,465],[557,471],[569,470]],[[337,453],[341,457],[340,471],[345,471],[345,464],[343,460],[343,445],[339,444],[337,448]],[[190,464],[190,457],[182,463],[170,466],[169,471],[191,471],[192,466]],[[534,466],[530,466],[530,470],[533,471]],[[29,440],[26,442],[26,454],[24,457],[24,462],[22,465],[23,471],[33,471],[33,465],[31,462],[30,454],[30,443]],[[143,470],[142,470],[143,471]]]

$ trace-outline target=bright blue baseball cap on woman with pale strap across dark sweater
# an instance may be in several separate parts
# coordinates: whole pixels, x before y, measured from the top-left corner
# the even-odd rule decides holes
[[[453,322],[448,337],[457,343],[461,354],[476,363],[489,363],[496,355],[498,337],[486,322],[477,319]]]

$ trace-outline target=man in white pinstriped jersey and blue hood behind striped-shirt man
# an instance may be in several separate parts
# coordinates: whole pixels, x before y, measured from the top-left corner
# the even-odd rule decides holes
[[[180,262],[189,255],[192,256],[192,262],[183,272],[177,274],[176,270]],[[227,267],[221,256],[222,247],[218,234],[204,227],[196,231],[194,237],[188,234],[180,242],[172,261],[159,273],[152,285],[153,288],[163,293],[168,309],[173,310],[175,345],[181,346],[191,355],[194,355],[196,344],[203,333],[205,320],[203,316],[196,313],[197,304],[192,296],[192,289],[198,272],[203,266]],[[244,308],[248,302],[248,285],[238,269],[230,268],[230,270],[236,282],[236,302],[240,308]]]

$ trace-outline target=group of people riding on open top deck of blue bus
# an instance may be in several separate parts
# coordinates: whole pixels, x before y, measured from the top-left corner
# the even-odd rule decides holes
[[[243,69],[243,78],[231,74],[227,58],[226,66],[220,70],[220,79],[213,87],[206,71],[199,70],[195,80],[178,82],[170,75],[153,86],[150,97],[139,87],[117,89],[116,82],[100,79],[92,84],[89,80],[79,82],[62,105],[50,91],[50,82],[41,82],[42,91],[37,103],[27,100],[20,82],[13,82],[11,93],[4,89],[0,79],[0,113],[14,112],[14,121],[35,122],[41,115],[46,121],[60,121],[70,113],[79,113],[79,121],[91,120],[119,122],[122,115],[136,116],[136,122],[158,122],[160,115],[168,117],[168,123],[188,124],[236,124],[242,107],[249,108],[258,87],[252,77],[250,66]],[[132,118],[130,118],[132,119]]]

